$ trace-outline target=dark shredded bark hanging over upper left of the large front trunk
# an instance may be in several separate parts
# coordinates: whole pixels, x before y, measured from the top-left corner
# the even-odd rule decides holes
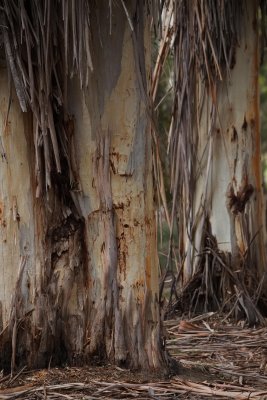
[[[163,4],[146,2],[155,28],[160,26]],[[22,111],[31,110],[34,116],[36,193],[40,196],[53,185],[53,171],[62,172],[62,158],[67,159],[69,175],[75,175],[71,154],[66,151],[68,82],[77,76],[81,88],[88,87],[94,70],[90,9],[97,8],[97,2],[1,0],[0,5],[6,63]],[[120,7],[128,12],[123,1]],[[106,11],[112,21],[111,2]]]

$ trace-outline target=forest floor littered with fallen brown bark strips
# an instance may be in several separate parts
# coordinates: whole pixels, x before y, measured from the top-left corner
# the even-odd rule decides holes
[[[267,399],[267,328],[246,328],[208,313],[165,322],[166,347],[179,361],[170,377],[118,367],[22,369],[0,378],[9,399]]]

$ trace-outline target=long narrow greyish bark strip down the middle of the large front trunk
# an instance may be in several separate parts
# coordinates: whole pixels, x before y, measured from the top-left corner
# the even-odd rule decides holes
[[[110,133],[100,135],[97,149],[97,190],[100,199],[100,211],[104,238],[101,245],[103,263],[102,290],[104,296],[97,310],[92,331],[94,336],[90,342],[90,351],[101,353],[101,342],[105,341],[107,331],[113,332],[109,344],[110,351],[117,363],[126,360],[126,347],[123,336],[123,322],[119,311],[119,283],[117,280],[118,250],[116,239],[115,208],[112,199],[110,178]],[[113,342],[113,343],[112,343]],[[114,349],[112,350],[112,348]]]

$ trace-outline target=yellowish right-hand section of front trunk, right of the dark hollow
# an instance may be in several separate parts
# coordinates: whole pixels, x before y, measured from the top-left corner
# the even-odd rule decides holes
[[[125,16],[116,14],[116,18]],[[118,20],[114,24],[120,26],[116,34],[123,50],[122,58],[115,54],[112,65],[116,80],[111,87],[103,84],[106,72],[92,76],[92,85],[98,88],[95,99],[107,100],[96,103],[90,90],[83,99],[73,84],[76,101],[72,109],[83,132],[77,142],[79,168],[90,171],[89,176],[80,173],[83,195],[79,196],[90,257],[92,307],[87,350],[119,365],[158,369],[164,361],[159,351],[151,138],[131,31],[127,23]],[[105,38],[107,49],[104,46],[99,53],[98,38],[92,38],[94,65],[99,63],[103,68],[109,40]],[[118,42],[116,37],[112,40]],[[82,104],[82,109],[75,104]],[[102,262],[95,268],[99,260]]]

